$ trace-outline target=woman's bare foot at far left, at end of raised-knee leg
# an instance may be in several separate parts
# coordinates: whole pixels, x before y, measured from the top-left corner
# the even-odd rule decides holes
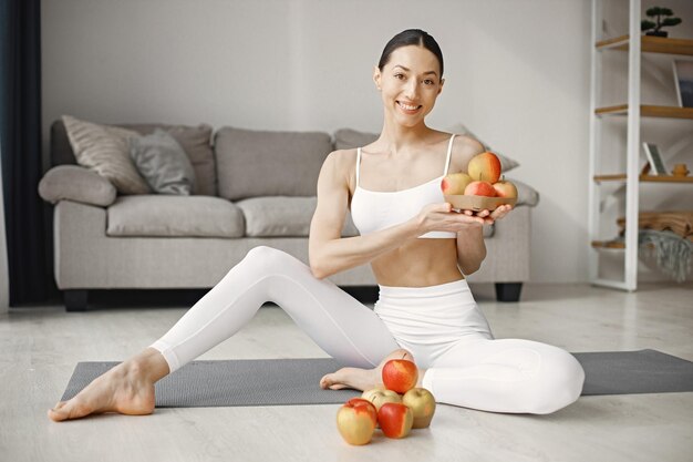
[[[76,397],[59,402],[48,411],[48,417],[60,422],[103,412],[151,414],[154,412],[154,383],[167,373],[164,357],[147,349],[94,379]]]

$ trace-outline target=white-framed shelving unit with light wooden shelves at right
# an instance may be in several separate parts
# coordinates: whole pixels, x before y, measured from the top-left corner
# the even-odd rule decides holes
[[[600,29],[602,10],[600,0],[592,0],[592,57],[590,95],[590,174],[589,174],[589,278],[594,285],[623,290],[638,288],[638,214],[639,186],[641,182],[693,184],[693,177],[655,176],[639,172],[641,117],[693,120],[692,107],[674,107],[641,104],[641,53],[664,53],[693,57],[693,40],[641,35],[641,1],[630,0],[629,33],[602,40]],[[628,52],[628,102],[608,107],[600,106],[602,55],[610,52]],[[634,110],[631,110],[631,109]],[[601,167],[601,123],[606,117],[625,116],[627,166],[625,173],[604,174]],[[625,238],[624,243],[604,240],[600,232],[600,196],[604,182],[625,184]],[[614,237],[614,236],[607,236]],[[606,279],[599,276],[599,253],[618,249],[624,254],[623,279]]]

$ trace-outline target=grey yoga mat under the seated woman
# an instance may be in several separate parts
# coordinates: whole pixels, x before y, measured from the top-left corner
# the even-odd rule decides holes
[[[693,362],[655,350],[572,353],[585,369],[582,396],[693,391]],[[77,363],[62,400],[118,362]],[[356,390],[322,390],[332,358],[193,361],[156,383],[156,407],[343,403]]]

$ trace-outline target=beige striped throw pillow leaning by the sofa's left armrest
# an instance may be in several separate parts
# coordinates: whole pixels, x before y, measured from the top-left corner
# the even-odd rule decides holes
[[[149,186],[130,157],[130,138],[139,136],[137,132],[70,115],[62,119],[77,164],[107,178],[121,194],[149,193]]]

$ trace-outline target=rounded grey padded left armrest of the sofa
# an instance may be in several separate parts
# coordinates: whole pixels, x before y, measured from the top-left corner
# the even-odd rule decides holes
[[[68,199],[107,207],[115,202],[115,187],[96,172],[79,165],[58,165],[43,175],[39,195],[55,204]]]

